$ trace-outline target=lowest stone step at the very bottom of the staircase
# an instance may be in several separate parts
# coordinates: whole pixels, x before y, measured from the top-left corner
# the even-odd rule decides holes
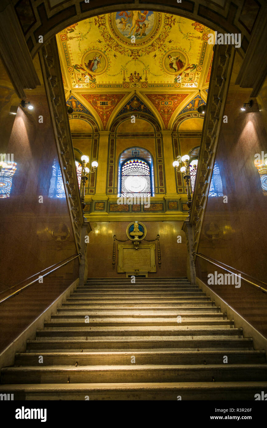
[[[14,400],[239,400],[254,401],[267,382],[42,383],[1,385]]]

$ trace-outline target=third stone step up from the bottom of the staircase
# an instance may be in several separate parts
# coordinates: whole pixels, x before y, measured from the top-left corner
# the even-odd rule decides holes
[[[266,364],[264,351],[226,351],[229,364]],[[19,352],[15,366],[39,366],[39,352]],[[131,365],[133,352],[45,352],[43,366]],[[222,364],[225,351],[134,351],[137,364]]]

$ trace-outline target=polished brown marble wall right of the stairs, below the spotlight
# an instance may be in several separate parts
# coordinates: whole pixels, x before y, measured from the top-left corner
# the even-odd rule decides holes
[[[255,155],[264,152],[267,156],[266,112],[264,102],[258,108],[256,99],[251,110],[240,110],[249,101],[250,90],[234,84],[239,62],[236,56],[224,112],[228,122],[222,124],[216,154],[223,196],[227,199],[209,196],[198,252],[252,276],[257,283],[267,283],[267,175],[260,175],[255,165]],[[261,96],[266,105],[264,91]],[[197,260],[202,278],[207,279],[208,273],[215,270],[219,272],[214,265]],[[211,287],[267,336],[267,294],[246,282],[240,288]]]

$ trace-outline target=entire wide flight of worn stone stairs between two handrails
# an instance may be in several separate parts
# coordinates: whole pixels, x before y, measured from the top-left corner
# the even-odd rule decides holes
[[[89,279],[1,383],[14,400],[255,400],[267,363],[186,278]]]

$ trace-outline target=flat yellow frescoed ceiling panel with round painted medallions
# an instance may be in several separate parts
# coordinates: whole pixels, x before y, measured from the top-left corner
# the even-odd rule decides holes
[[[121,11],[80,21],[57,38],[73,89],[196,88],[212,47],[208,33],[179,16]]]

